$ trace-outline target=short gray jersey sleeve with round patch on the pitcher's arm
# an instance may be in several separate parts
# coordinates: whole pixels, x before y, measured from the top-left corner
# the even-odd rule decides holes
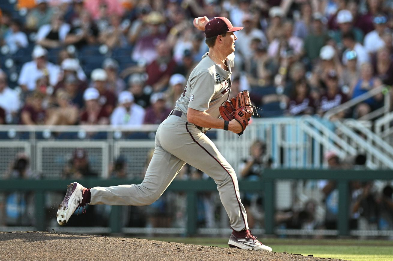
[[[214,95],[214,80],[208,72],[198,73],[191,81],[188,107],[197,111],[209,109],[209,103]]]

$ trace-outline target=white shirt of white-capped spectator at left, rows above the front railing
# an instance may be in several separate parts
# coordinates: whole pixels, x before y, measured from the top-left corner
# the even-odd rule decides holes
[[[51,62],[47,62],[46,69],[48,70],[50,85],[55,86],[59,80],[60,67]],[[20,70],[18,84],[26,85],[29,91],[33,91],[37,79],[44,75],[44,72],[37,68],[37,63],[35,61],[27,62]]]

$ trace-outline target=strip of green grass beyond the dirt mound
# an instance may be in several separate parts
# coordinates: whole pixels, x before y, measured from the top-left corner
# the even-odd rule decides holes
[[[228,238],[156,237],[160,241],[228,247]],[[393,261],[393,241],[357,239],[261,239],[274,252],[353,261]]]

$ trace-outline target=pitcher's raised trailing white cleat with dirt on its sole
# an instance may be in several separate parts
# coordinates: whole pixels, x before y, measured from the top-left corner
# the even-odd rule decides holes
[[[84,187],[77,182],[71,183],[67,186],[66,196],[57,209],[56,217],[59,225],[66,225],[73,212],[75,212],[77,208],[84,207],[86,205],[82,205],[83,189]]]

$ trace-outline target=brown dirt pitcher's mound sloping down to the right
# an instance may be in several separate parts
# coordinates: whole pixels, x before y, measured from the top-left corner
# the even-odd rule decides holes
[[[48,232],[0,232],[0,260],[314,261],[320,257],[146,239]],[[337,259],[325,259],[337,261]]]

